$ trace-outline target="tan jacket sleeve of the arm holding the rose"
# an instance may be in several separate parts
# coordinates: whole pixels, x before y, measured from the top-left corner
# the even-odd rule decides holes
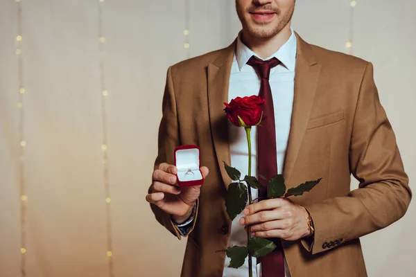
[[[368,63],[361,82],[349,145],[349,168],[360,182],[346,197],[305,205],[315,226],[311,253],[383,229],[404,216],[412,193],[404,172],[395,134],[379,100],[373,66]]]

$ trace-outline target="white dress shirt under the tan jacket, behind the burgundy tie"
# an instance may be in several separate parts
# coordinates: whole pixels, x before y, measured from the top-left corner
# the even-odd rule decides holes
[[[284,157],[288,144],[289,131],[291,129],[291,117],[293,109],[293,96],[295,87],[295,60],[296,60],[296,36],[291,29],[291,37],[279,48],[279,50],[266,58],[269,60],[276,57],[281,64],[275,66],[270,71],[270,87],[272,89],[273,105],[275,109],[276,126],[276,146],[277,146],[277,171],[283,172]],[[253,51],[237,39],[236,54],[232,63],[231,75],[229,77],[229,96],[228,101],[237,96],[258,95],[260,90],[259,77],[252,68],[246,64],[250,57],[255,55]],[[259,57],[260,58],[260,57]],[[260,58],[261,59],[261,58]],[[263,60],[263,59],[261,59]],[[257,127],[252,127],[252,176],[257,177]],[[229,123],[231,165],[241,171],[241,175],[248,175],[248,143],[243,127],[236,127]],[[252,189],[252,197],[257,197],[257,190]],[[237,215],[232,221],[231,234],[229,237],[229,247],[234,245],[245,246],[247,244],[247,233],[243,226],[239,224],[243,213]],[[253,258],[253,276],[261,276],[260,265],[256,265],[256,258]],[[237,277],[248,276],[248,259],[239,269],[229,268],[229,258],[225,259],[225,269],[223,276]],[[284,259],[285,276],[290,277],[286,258]]]

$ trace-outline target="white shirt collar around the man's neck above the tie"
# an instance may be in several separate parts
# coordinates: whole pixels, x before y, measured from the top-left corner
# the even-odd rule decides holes
[[[296,35],[291,28],[291,37],[289,37],[287,42],[285,42],[274,54],[264,60],[270,60],[272,57],[276,57],[286,67],[286,69],[288,69],[288,71],[295,71],[296,46]],[[241,42],[239,34],[237,37],[236,59],[237,64],[239,64],[240,71],[243,69],[243,66],[247,64],[252,55],[258,57],[260,60],[263,60],[259,57],[259,55],[251,51],[248,46]]]

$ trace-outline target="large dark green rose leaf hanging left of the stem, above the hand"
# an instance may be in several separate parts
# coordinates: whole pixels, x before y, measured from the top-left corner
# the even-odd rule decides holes
[[[234,220],[245,208],[248,199],[247,187],[243,183],[229,184],[225,206],[230,220]]]

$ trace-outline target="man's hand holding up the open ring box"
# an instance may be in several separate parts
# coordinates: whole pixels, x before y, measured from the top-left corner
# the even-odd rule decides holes
[[[208,176],[208,168],[200,168],[202,176]],[[177,224],[183,223],[192,213],[193,205],[200,195],[201,186],[181,188],[177,186],[177,168],[161,163],[159,169],[153,171],[153,184],[150,186],[150,194],[146,195],[146,201],[155,204],[162,211],[172,215]]]

